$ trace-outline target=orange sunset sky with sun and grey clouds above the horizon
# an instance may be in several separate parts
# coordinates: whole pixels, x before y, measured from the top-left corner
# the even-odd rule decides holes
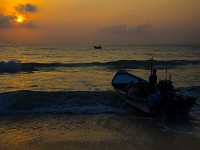
[[[200,44],[200,0],[0,0],[0,43]]]

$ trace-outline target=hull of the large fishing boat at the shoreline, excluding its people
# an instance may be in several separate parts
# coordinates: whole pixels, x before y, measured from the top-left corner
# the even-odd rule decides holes
[[[116,93],[130,106],[136,108],[147,114],[151,114],[149,96],[150,94],[145,93],[145,96],[138,97],[134,95],[129,95],[126,92],[126,87],[132,81],[134,84],[137,84],[138,81],[144,85],[145,88],[148,88],[148,82],[144,79],[141,79],[133,74],[130,74],[126,71],[119,70],[112,79],[112,86]],[[169,86],[172,84],[170,80],[159,81],[160,87]],[[162,88],[163,88],[162,87]],[[158,88],[159,89],[159,88]],[[160,89],[161,90],[161,89]],[[180,115],[187,115],[190,112],[191,107],[195,104],[197,97],[190,95],[184,95],[178,91],[172,91],[173,94],[173,106],[174,113]],[[158,94],[161,92],[158,90]],[[162,109],[162,108],[161,108]]]

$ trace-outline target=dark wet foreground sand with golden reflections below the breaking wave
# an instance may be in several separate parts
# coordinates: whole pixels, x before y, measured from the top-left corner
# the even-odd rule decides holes
[[[0,150],[199,150],[199,132],[131,115],[1,115]]]

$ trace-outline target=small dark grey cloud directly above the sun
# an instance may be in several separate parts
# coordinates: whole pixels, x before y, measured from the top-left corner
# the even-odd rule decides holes
[[[19,4],[18,6],[15,7],[15,10],[20,12],[20,13],[35,13],[37,12],[37,6],[33,4]]]

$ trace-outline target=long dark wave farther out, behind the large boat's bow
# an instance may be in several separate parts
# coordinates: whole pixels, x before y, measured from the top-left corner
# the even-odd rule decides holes
[[[0,62],[0,72],[20,72],[37,71],[60,67],[105,67],[108,69],[149,69],[150,60],[118,60],[110,62],[90,62],[90,63],[20,63],[20,61]],[[153,64],[160,70],[166,68],[173,69],[186,65],[200,65],[200,61],[172,60],[153,61]]]

